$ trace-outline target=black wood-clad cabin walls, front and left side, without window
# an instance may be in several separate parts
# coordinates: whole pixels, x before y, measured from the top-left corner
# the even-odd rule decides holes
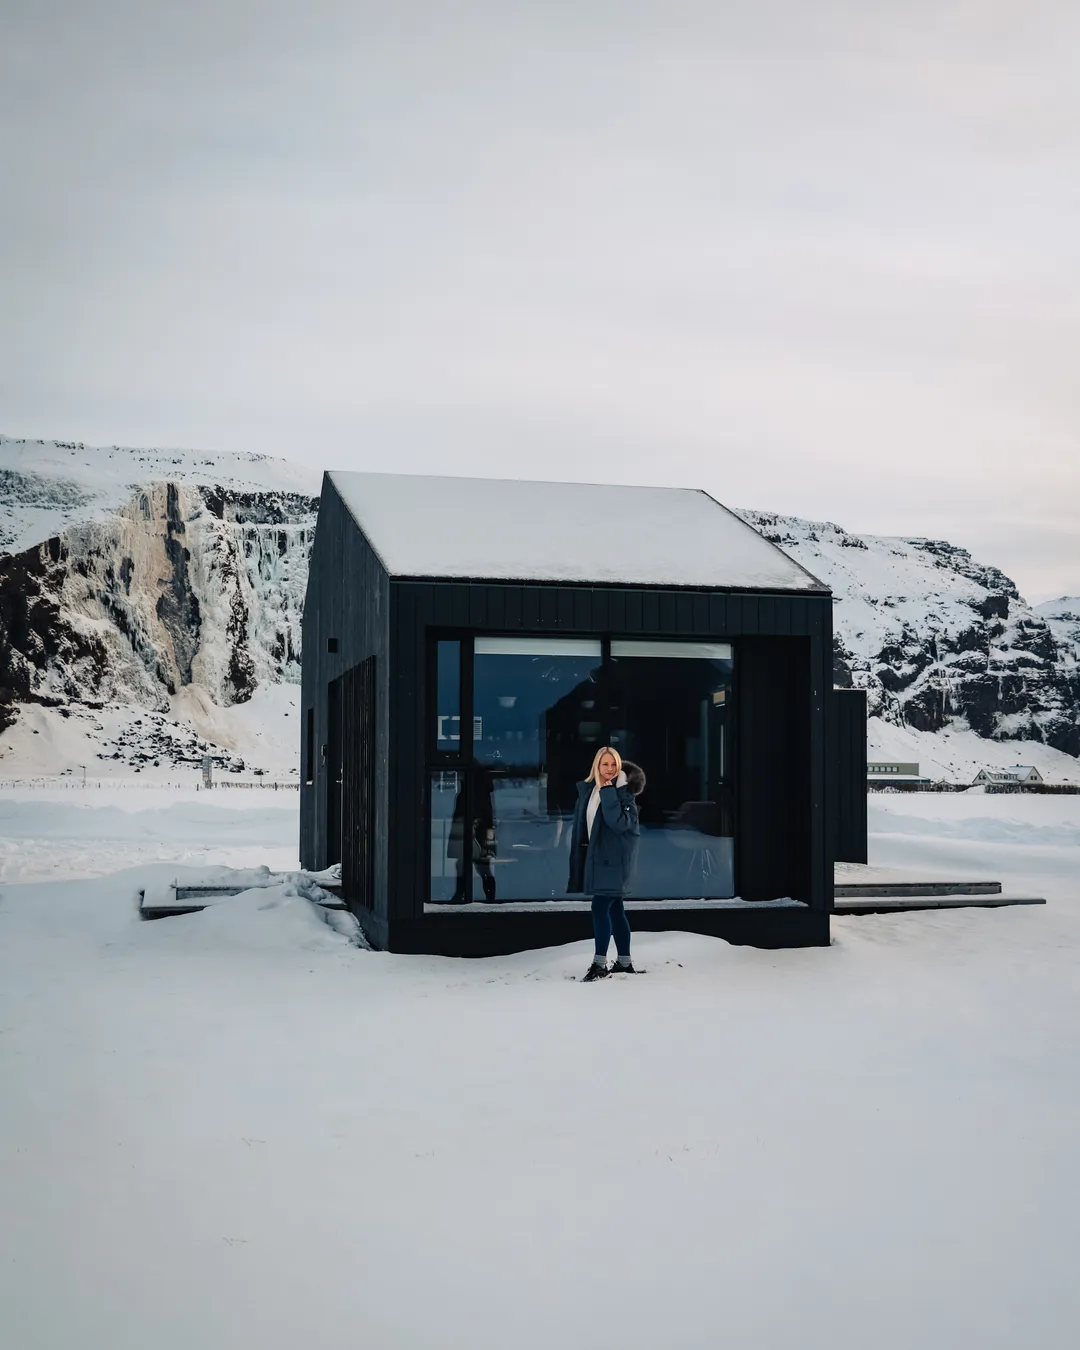
[[[301,763],[308,756],[308,709],[313,710],[316,744],[315,782],[301,787],[301,861],[320,868],[328,859],[321,747],[329,730],[328,686],[346,676],[340,686],[346,836],[350,828],[360,830],[363,821],[373,822],[366,857],[359,838],[352,856],[346,846],[346,888],[379,945],[424,949],[425,932],[433,944],[428,950],[439,949],[441,941],[439,917],[424,914],[429,859],[425,662],[428,641],[440,629],[733,641],[738,890],[747,899],[791,895],[821,915],[825,927],[811,925],[805,933],[799,930],[799,938],[792,911],[783,911],[788,918],[776,919],[778,944],[806,941],[810,934],[814,941],[828,941],[836,844],[834,794],[826,795],[826,748],[834,734],[834,701],[826,697],[832,688],[830,595],[392,580],[332,483],[324,481],[304,612]],[[333,652],[328,651],[329,639],[336,640]],[[358,668],[367,662],[371,664],[362,675]],[[374,736],[364,730],[366,716],[356,705],[367,697],[360,694],[363,682],[371,695]],[[364,801],[356,775],[370,783],[370,801]],[[760,921],[732,921],[730,932],[765,934],[771,913],[782,911],[755,911]],[[566,917],[555,922],[554,915],[539,915],[512,925],[512,915],[504,918],[509,925],[506,950],[518,946],[522,937],[524,945],[536,945],[541,930],[555,933],[559,923],[566,927]],[[686,911],[680,921],[690,926]],[[659,917],[649,925],[663,922]],[[521,936],[513,937],[510,927]],[[455,940],[447,941],[454,946]],[[491,949],[487,938],[481,945]]]

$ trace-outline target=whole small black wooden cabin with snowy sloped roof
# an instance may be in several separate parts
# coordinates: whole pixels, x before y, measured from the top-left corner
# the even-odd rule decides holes
[[[648,778],[637,930],[828,944],[865,859],[832,595],[702,491],[329,473],[304,610],[300,855],[364,933],[482,956],[591,933],[575,783]],[[860,814],[861,813],[861,814]]]

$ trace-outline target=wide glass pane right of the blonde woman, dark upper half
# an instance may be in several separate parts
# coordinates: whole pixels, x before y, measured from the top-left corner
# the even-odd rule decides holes
[[[612,641],[612,744],[645,771],[633,895],[734,895],[729,643]]]

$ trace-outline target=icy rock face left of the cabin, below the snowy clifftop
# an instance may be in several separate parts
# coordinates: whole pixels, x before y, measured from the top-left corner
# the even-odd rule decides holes
[[[227,706],[298,682],[316,509],[300,493],[151,482],[0,558],[0,729],[19,703],[165,710],[194,684]]]

